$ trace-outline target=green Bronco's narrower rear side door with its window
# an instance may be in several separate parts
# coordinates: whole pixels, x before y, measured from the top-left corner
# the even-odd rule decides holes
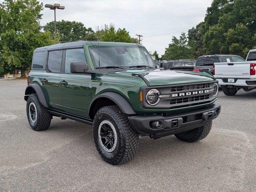
[[[46,72],[40,77],[42,89],[50,108],[59,106],[59,77],[62,63],[63,50],[52,50],[48,52]]]

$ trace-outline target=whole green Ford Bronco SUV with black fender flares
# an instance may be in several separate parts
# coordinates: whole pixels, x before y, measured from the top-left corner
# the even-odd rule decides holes
[[[34,51],[24,99],[33,130],[49,128],[52,116],[92,125],[100,156],[121,164],[140,137],[205,138],[217,96],[211,74],[156,68],[140,44],[79,41]]]

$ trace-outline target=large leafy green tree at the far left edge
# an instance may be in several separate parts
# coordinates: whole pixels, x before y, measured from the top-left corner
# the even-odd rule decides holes
[[[53,44],[49,32],[41,32],[43,4],[37,0],[5,0],[0,4],[0,68],[4,73],[30,68],[33,50]]]

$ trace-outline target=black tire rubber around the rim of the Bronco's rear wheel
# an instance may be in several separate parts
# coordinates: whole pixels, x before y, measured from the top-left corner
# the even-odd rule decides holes
[[[29,106],[30,106],[30,103],[32,103],[32,102],[35,104],[36,112],[37,112],[37,119],[36,119],[35,123],[33,123],[30,120],[30,114],[29,114]],[[28,122],[33,130],[42,131],[42,130],[46,130],[49,128],[49,126],[51,124],[52,116],[48,112],[47,108],[42,106],[42,104],[40,103],[40,101],[38,99],[38,96],[35,93],[31,94],[28,97],[26,110],[27,110]]]

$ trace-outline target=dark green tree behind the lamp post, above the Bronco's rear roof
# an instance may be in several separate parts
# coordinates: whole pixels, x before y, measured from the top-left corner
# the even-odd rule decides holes
[[[79,40],[97,40],[92,28],[86,28],[82,22],[57,21],[56,29],[61,43]],[[54,22],[47,23],[44,26],[44,31],[50,31],[52,38],[54,38]]]

